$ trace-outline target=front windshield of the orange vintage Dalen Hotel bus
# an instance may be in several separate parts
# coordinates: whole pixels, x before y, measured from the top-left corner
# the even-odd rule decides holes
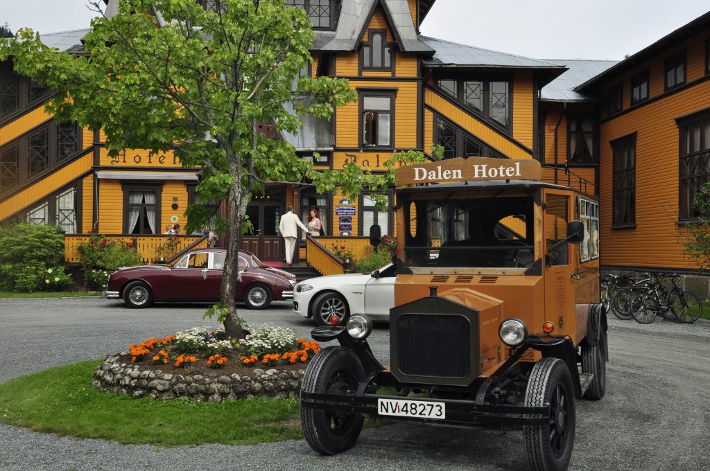
[[[405,205],[410,267],[532,267],[532,197],[422,199]]]

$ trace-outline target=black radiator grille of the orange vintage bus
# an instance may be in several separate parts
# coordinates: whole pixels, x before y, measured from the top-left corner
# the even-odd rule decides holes
[[[397,321],[398,369],[410,376],[471,373],[469,320],[452,314],[404,314]]]

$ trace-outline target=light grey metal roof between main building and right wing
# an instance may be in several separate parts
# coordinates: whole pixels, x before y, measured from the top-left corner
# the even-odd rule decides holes
[[[569,70],[542,87],[540,99],[545,101],[594,101],[592,96],[575,92],[574,87],[578,87],[609,67],[616,65],[618,60],[545,59],[545,62],[564,65]]]

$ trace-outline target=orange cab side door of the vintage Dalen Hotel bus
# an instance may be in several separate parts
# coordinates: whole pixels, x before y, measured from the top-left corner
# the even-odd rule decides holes
[[[572,221],[572,195],[547,190],[544,193],[542,242],[545,265],[545,321],[555,324],[552,335],[574,333],[574,287],[579,275],[574,272],[574,252],[571,243],[550,248],[567,237],[567,223]],[[541,326],[535,326],[540,328]]]

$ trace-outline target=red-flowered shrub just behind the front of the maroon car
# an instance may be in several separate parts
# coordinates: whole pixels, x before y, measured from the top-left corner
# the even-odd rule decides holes
[[[119,268],[141,265],[141,255],[133,250],[132,243],[109,240],[103,235],[92,234],[78,250],[84,279],[95,287],[106,284],[109,273]]]

